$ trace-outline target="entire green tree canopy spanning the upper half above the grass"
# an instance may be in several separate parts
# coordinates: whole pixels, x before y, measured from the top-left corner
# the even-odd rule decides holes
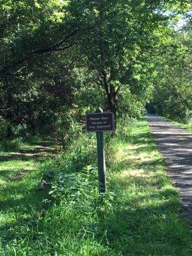
[[[78,122],[99,106],[136,117],[149,102],[163,115],[189,115],[190,1],[0,3],[0,116],[8,138],[18,125],[50,130],[72,109]]]

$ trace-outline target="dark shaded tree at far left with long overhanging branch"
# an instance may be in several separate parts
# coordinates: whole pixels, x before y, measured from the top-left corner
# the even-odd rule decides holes
[[[68,51],[74,45],[72,37],[77,33],[81,20],[77,26],[68,23],[67,19],[65,21],[65,8],[66,1],[59,0],[1,3],[0,114],[8,121],[8,138],[12,137],[13,124],[27,123],[34,129],[34,112],[39,109],[36,104],[41,102],[40,98],[47,99],[44,97],[47,92],[43,84],[52,74],[51,81],[58,87],[58,79],[61,77],[58,70],[54,72],[55,68],[52,66],[60,67],[60,70],[64,66],[63,70],[67,70],[74,58],[71,52],[68,52],[71,58],[62,52]],[[65,65],[61,60],[63,56],[68,61]],[[49,61],[54,63],[48,64]],[[45,68],[49,69],[49,74],[44,72]],[[55,91],[51,99],[56,94]],[[63,88],[63,92],[70,93],[70,89],[66,91]],[[62,93],[60,97],[61,95]],[[57,99],[58,97],[54,100]],[[51,104],[48,105],[51,108]],[[43,108],[46,104],[41,106]]]

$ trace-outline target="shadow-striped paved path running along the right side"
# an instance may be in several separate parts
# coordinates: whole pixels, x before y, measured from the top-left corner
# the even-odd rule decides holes
[[[186,209],[192,227],[192,132],[158,116],[147,115],[148,125],[161,153],[166,159],[170,176]]]

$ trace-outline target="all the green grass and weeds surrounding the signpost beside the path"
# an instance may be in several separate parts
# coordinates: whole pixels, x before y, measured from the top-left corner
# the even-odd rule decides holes
[[[129,122],[106,141],[105,196],[97,190],[95,134],[7,182],[0,193],[0,255],[191,255],[179,196],[146,120]],[[5,161],[0,172],[8,177],[29,162]],[[52,182],[47,191],[37,189],[42,175]]]

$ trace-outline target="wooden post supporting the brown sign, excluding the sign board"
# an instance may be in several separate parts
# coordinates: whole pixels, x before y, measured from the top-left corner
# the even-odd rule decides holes
[[[102,113],[99,109],[97,113]],[[99,192],[106,193],[106,161],[104,152],[104,132],[97,132],[97,159],[98,159],[98,174],[99,174]]]

